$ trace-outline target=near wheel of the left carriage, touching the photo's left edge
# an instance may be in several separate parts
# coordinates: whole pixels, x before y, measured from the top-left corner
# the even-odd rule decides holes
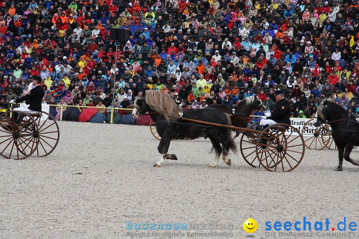
[[[6,117],[10,116],[10,117]],[[39,130],[35,120],[24,112],[10,111],[0,116],[0,155],[25,159],[35,152]]]

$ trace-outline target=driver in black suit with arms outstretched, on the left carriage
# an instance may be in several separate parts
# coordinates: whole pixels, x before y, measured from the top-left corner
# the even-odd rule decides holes
[[[16,100],[11,100],[10,104],[12,103],[20,103],[25,101],[26,105],[29,105],[28,108],[26,107],[19,107],[13,109],[14,111],[21,111],[21,112],[27,112],[27,113],[37,113],[41,112],[41,102],[42,98],[45,95],[44,90],[42,89],[41,85],[41,78],[40,77],[34,77],[32,80],[32,85],[35,86],[30,90],[30,92]]]

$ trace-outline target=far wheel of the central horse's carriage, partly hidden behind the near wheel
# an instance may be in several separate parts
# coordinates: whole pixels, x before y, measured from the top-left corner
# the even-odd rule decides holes
[[[252,123],[247,128],[256,130],[259,122]],[[243,159],[252,167],[259,167],[260,163],[257,160],[256,143],[258,133],[243,132],[240,139],[240,151]]]

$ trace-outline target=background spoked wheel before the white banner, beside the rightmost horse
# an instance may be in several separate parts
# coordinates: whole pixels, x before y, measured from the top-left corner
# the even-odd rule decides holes
[[[304,143],[307,148],[322,150],[325,148],[331,139],[331,130],[329,124],[321,124],[319,126],[314,126],[312,120],[308,120],[302,128],[302,135],[304,133],[309,133],[309,136]]]

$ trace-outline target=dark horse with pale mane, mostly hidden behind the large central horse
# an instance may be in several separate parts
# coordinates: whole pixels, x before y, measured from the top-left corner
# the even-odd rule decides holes
[[[246,128],[248,126],[248,118],[253,110],[266,110],[261,100],[257,96],[250,96],[239,102],[233,107],[225,105],[209,105],[207,108],[215,108],[224,113],[231,115],[231,123],[233,126]],[[234,138],[238,137],[239,131],[236,131]]]

